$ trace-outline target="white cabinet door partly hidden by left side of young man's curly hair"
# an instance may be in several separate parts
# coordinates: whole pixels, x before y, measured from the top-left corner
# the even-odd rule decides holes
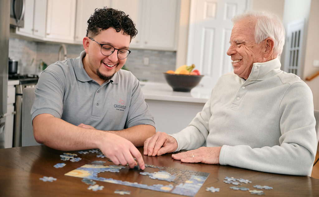
[[[82,43],[83,37],[86,35],[87,20],[94,13],[95,8],[103,8],[110,6],[110,0],[78,0],[75,24],[75,42]]]

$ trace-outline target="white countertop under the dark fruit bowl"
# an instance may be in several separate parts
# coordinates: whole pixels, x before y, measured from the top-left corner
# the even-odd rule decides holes
[[[176,102],[206,103],[211,90],[195,87],[190,92],[177,92],[167,83],[140,82],[145,99]]]

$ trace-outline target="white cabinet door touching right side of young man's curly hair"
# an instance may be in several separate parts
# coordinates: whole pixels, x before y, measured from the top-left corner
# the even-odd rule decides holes
[[[142,0],[116,0],[112,1],[112,8],[125,12],[126,15],[133,20],[135,28],[137,29],[137,35],[131,40],[130,47],[140,48],[141,36],[143,36],[143,1]]]

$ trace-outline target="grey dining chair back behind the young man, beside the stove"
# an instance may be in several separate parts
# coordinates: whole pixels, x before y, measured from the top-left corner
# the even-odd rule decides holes
[[[34,87],[28,87],[24,88],[22,92],[22,146],[41,145],[34,139],[31,121],[31,108],[35,97],[34,90]]]

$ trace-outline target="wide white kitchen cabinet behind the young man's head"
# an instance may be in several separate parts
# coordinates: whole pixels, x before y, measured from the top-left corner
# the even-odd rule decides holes
[[[180,0],[78,0],[76,43],[82,43],[90,14],[105,5],[125,12],[135,23],[138,34],[130,48],[176,51]]]

